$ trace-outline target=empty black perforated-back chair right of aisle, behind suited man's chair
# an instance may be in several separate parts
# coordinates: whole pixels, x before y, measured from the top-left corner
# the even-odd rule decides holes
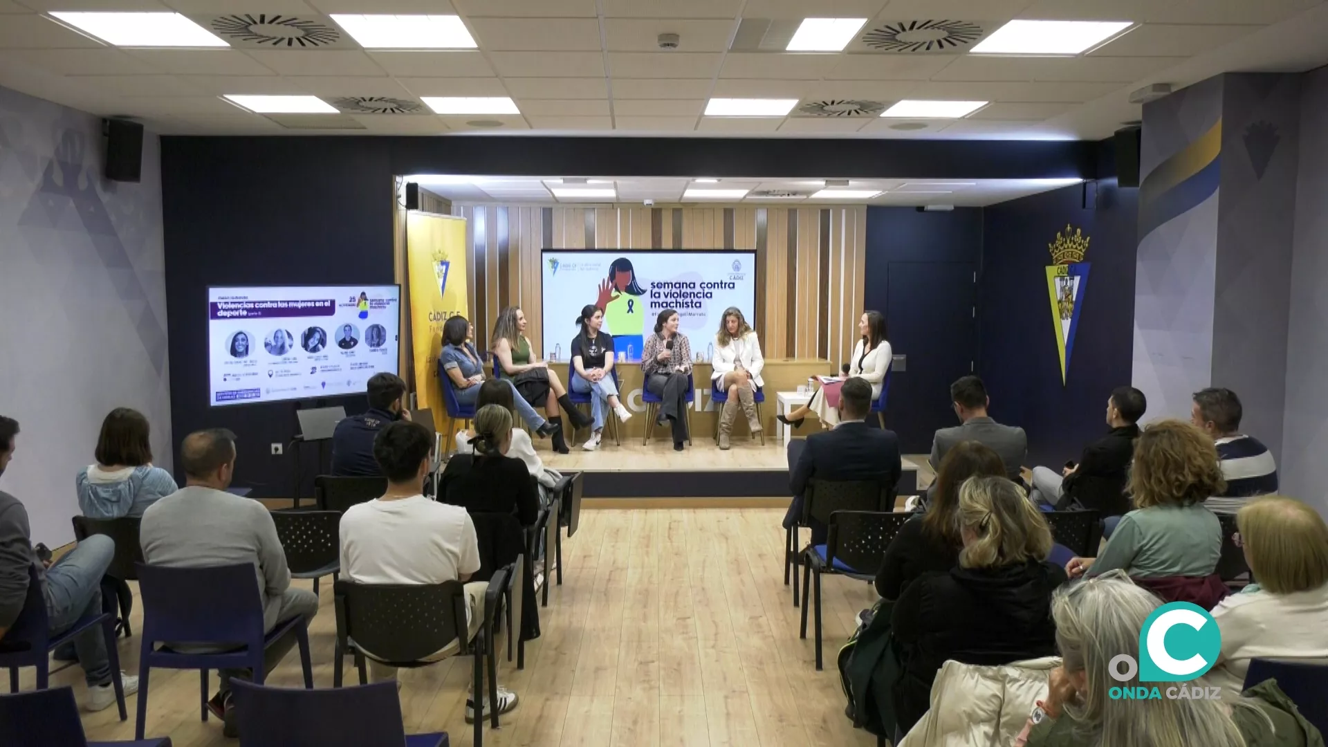
[[[838,574],[871,581],[886,560],[886,546],[895,538],[911,513],[875,510],[837,510],[827,522],[826,544],[809,545],[802,569],[802,629],[799,638],[807,637],[807,582],[815,577],[811,589],[817,619],[817,670],[821,670],[821,576]]]

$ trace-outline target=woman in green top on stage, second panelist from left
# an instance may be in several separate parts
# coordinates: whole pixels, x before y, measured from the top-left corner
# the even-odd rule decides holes
[[[511,379],[521,399],[531,407],[543,405],[548,423],[558,427],[550,436],[554,449],[558,453],[568,453],[558,405],[567,411],[567,419],[572,421],[574,428],[586,428],[592,421],[572,407],[558,372],[531,351],[530,340],[526,339],[526,314],[519,307],[509,306],[498,314],[489,348],[498,360],[498,375]]]

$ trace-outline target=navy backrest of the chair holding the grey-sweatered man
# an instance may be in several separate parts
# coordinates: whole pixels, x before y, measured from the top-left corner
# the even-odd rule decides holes
[[[263,598],[251,564],[138,564],[143,641],[230,642],[262,649]]]

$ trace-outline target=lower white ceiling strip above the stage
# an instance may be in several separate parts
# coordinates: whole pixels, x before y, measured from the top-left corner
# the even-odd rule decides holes
[[[584,177],[582,177],[584,178]],[[563,183],[562,177],[471,177],[414,174],[405,177],[421,187],[453,202],[505,205],[625,205],[647,199],[665,205],[782,205],[815,207],[830,205],[894,205],[980,207],[1053,190],[1078,179],[851,179],[847,185],[829,186],[831,190],[876,190],[878,197],[867,199],[811,198],[811,193],[825,187],[825,179],[744,179],[725,178],[714,183],[673,177],[590,177],[586,183]],[[588,190],[612,189],[615,198],[559,198],[551,189]],[[742,189],[748,195],[740,199],[696,199],[683,195],[687,189]],[[797,197],[770,197],[768,193],[795,193]],[[765,194],[762,194],[765,193]]]

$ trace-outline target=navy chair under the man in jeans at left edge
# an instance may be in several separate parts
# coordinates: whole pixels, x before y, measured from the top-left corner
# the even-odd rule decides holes
[[[252,577],[252,570],[250,572]],[[120,653],[116,650],[116,615],[101,613],[78,619],[69,630],[58,635],[50,634],[50,619],[46,617],[46,597],[36,569],[28,565],[28,598],[23,602],[19,619],[0,638],[0,669],[9,670],[9,693],[19,691],[19,669],[36,667],[37,690],[45,690],[50,677],[50,651],[65,641],[73,641],[84,630],[101,626],[106,637],[106,657],[110,659],[110,681],[116,687],[116,703],[120,706],[120,720],[129,719],[125,711],[125,689],[120,681]],[[3,723],[3,722],[0,722]],[[143,738],[142,732],[138,735]],[[0,744],[9,742],[0,740]],[[21,742],[20,742],[21,744]]]

